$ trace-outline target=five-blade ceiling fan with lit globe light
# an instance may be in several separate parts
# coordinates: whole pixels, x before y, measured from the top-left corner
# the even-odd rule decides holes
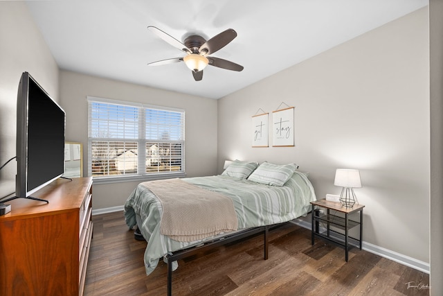
[[[232,71],[243,70],[243,66],[235,64],[235,62],[209,56],[210,54],[213,54],[226,46],[235,37],[237,37],[237,32],[235,32],[233,29],[223,31],[210,38],[210,40],[205,40],[204,37],[199,35],[190,35],[186,37],[182,43],[171,35],[161,31],[159,28],[154,26],[148,26],[147,28],[152,33],[165,40],[165,42],[168,42],[180,51],[184,51],[186,53],[183,58],[171,58],[167,60],[159,60],[157,62],[150,62],[148,64],[149,66],[160,66],[163,64],[172,64],[174,62],[185,62],[186,66],[191,69],[192,76],[194,76],[195,81],[200,81],[203,78],[203,69],[208,64],[210,66]]]

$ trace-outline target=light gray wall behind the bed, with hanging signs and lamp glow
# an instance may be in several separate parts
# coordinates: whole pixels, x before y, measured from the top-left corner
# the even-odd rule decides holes
[[[363,240],[429,262],[428,46],[422,8],[221,98],[219,173],[225,159],[295,162],[324,198],[340,194],[336,168],[360,169]],[[251,148],[251,116],[282,102],[296,146]]]

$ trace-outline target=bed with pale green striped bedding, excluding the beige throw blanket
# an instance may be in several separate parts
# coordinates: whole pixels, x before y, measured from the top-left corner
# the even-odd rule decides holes
[[[205,242],[214,243],[217,238],[242,234],[250,229],[266,235],[269,225],[306,216],[311,209],[310,202],[316,200],[316,195],[307,174],[296,171],[297,167],[295,164],[281,166],[266,162],[259,166],[254,162],[236,160],[221,175],[180,179],[183,184],[228,198],[233,204],[237,218],[235,229],[227,228],[230,230],[225,229],[195,240],[177,241],[163,234],[161,223],[165,214],[163,208],[166,205],[164,200],[160,200],[159,196],[154,194],[157,189],[150,189],[153,182],[159,181],[138,184],[125,202],[125,220],[129,228],[137,226],[148,242],[144,255],[146,274],[150,275],[159,259],[163,257],[168,261],[168,256],[179,250],[188,250],[204,245]],[[176,183],[180,184],[177,181]],[[172,270],[177,268],[177,262],[170,261],[168,267],[169,264],[172,264]],[[168,274],[169,272],[170,270]],[[169,286],[170,279],[168,290]]]

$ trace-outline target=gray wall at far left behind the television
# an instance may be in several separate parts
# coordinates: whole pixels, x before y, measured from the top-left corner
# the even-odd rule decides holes
[[[21,1],[0,1],[0,164],[16,155],[17,89],[28,71],[58,101],[58,66]],[[17,162],[0,172],[0,198],[15,191]]]

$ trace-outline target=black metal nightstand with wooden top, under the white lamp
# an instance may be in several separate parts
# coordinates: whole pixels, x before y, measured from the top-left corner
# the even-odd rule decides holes
[[[343,207],[340,202],[332,202],[329,200],[316,200],[311,202],[312,204],[312,229],[311,229],[311,243],[314,245],[314,238],[316,236],[320,238],[325,238],[327,241],[330,241],[336,245],[340,245],[345,248],[345,259],[348,259],[348,250],[350,247],[349,244],[349,230],[353,227],[360,226],[360,237],[353,238],[358,241],[359,247],[361,250],[361,242],[363,238],[363,204],[354,204],[354,207]],[[326,213],[320,213],[319,208],[326,209]],[[338,213],[343,213],[343,216],[338,216],[335,214],[331,214],[331,210],[337,211]],[[360,220],[350,220],[349,215],[352,213],[360,212]],[[337,213],[337,214],[338,214]],[[320,232],[320,222],[326,223],[326,230],[324,232]],[[334,229],[343,230],[344,234],[338,232]],[[331,234],[334,234],[331,236]],[[339,238],[344,239],[341,241]]]

